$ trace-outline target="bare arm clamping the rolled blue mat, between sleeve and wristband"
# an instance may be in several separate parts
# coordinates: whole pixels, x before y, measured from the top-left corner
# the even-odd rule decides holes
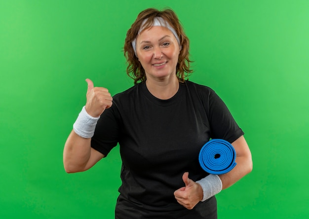
[[[232,143],[236,151],[236,166],[228,173],[219,175],[222,181],[222,189],[230,187],[242,177],[252,171],[252,157],[249,146],[243,136]]]

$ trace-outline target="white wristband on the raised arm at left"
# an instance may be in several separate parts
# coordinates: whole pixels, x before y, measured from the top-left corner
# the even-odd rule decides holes
[[[90,139],[94,135],[95,126],[99,117],[92,117],[85,110],[85,106],[79,112],[79,115],[73,124],[73,130],[82,138]]]

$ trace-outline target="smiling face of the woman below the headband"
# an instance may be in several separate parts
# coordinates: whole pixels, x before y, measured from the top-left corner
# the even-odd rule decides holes
[[[142,31],[136,38],[136,52],[147,79],[176,77],[180,48],[167,28],[154,26]]]

